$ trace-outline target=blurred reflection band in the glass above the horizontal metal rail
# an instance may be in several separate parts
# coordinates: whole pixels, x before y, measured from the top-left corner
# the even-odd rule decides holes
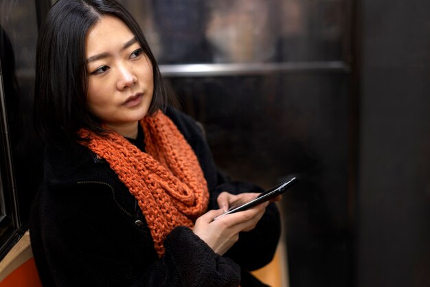
[[[343,60],[345,0],[121,1],[160,64]]]

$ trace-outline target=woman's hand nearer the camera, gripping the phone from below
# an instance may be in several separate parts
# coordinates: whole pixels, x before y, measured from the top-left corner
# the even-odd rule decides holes
[[[240,231],[250,231],[262,218],[269,202],[261,203],[245,211],[227,214],[223,209],[208,211],[197,218],[193,232],[199,236],[215,253],[223,255],[239,239]]]

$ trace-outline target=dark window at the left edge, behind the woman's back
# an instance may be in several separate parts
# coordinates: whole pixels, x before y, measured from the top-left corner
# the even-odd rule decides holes
[[[27,229],[41,178],[41,143],[32,123],[36,4],[0,1],[0,256]]]

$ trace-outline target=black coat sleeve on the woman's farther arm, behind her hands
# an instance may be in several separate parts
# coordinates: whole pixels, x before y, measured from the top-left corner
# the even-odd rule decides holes
[[[199,159],[211,192],[210,209],[218,209],[216,198],[221,192],[230,192],[231,194],[263,192],[261,187],[252,183],[231,181],[227,174],[216,168],[205,135],[194,119],[172,109],[168,111],[168,115],[177,124]],[[280,214],[276,205],[272,203],[267,207],[266,213],[256,228],[249,232],[240,233],[238,242],[225,256],[231,257],[234,262],[248,271],[261,268],[273,259],[280,239],[280,231]]]

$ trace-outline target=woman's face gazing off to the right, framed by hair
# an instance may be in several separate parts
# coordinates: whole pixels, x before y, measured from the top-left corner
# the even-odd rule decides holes
[[[135,35],[114,16],[103,16],[87,33],[89,111],[117,133],[128,136],[148,112],[152,65]]]

